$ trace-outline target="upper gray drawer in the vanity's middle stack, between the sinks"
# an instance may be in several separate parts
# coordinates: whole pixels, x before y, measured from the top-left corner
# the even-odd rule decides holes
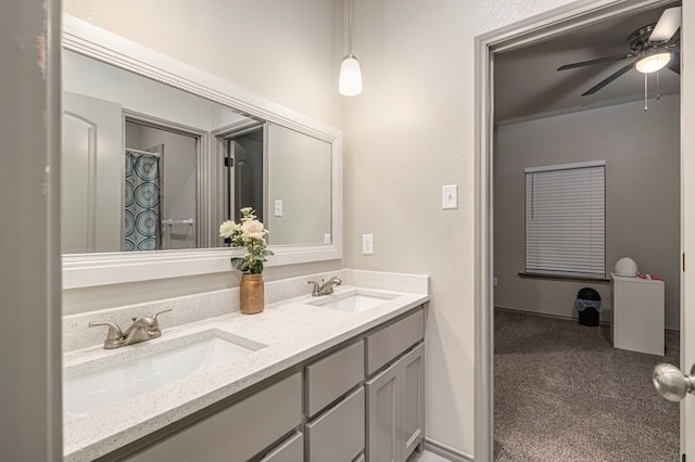
[[[365,377],[364,342],[344,347],[306,367],[306,413],[313,418]]]

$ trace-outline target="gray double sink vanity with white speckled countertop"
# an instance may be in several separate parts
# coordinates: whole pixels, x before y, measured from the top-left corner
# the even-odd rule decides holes
[[[172,299],[160,337],[115,349],[76,341],[93,343],[90,316],[167,300],[66,317],[65,460],[407,459],[425,437],[427,277],[339,273],[330,295],[309,295],[314,278],[266,283],[280,300],[253,316],[237,288]]]

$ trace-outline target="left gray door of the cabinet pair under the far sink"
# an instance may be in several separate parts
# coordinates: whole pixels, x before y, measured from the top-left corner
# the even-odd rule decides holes
[[[399,363],[367,381],[367,461],[400,462]]]

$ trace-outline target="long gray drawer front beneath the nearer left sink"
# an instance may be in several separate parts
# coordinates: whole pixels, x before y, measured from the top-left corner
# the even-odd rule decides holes
[[[154,442],[130,461],[242,462],[302,422],[302,375],[293,374]]]

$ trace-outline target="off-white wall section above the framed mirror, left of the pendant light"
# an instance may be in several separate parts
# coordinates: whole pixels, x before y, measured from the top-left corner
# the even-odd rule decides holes
[[[65,0],[63,10],[333,127],[338,0]],[[338,59],[339,60],[339,59]]]

